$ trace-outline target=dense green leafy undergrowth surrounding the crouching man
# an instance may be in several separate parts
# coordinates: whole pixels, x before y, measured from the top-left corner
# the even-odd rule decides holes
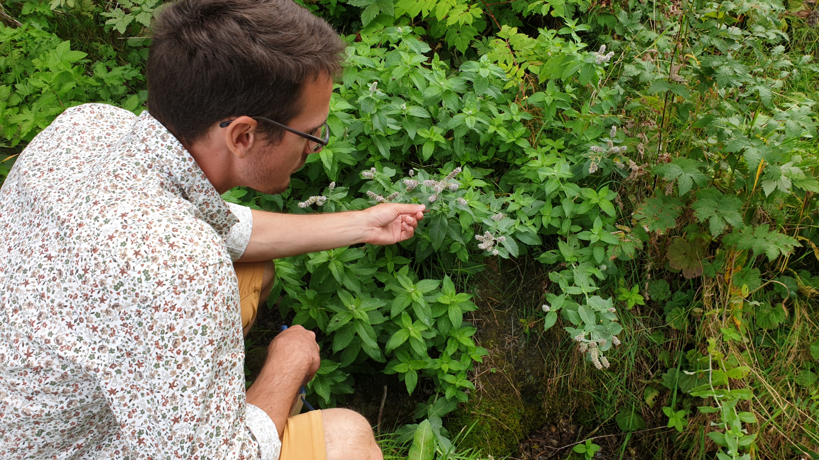
[[[287,192],[224,199],[428,206],[398,245],[276,261],[269,304],[319,331],[308,399],[343,404],[361,373],[431,382],[398,439],[450,455],[441,417],[492,359],[470,286],[509,259],[541,274],[515,316],[555,344],[543,385],[621,455],[819,458],[819,13],[791,3],[305,2],[348,43],[330,143]],[[157,0],[4,5],[0,175],[66,107],[144,110]]]

